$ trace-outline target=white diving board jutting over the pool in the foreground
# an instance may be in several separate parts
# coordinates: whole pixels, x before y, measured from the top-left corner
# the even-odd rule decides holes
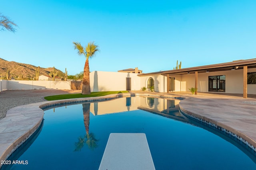
[[[110,133],[99,170],[155,170],[145,133]]]

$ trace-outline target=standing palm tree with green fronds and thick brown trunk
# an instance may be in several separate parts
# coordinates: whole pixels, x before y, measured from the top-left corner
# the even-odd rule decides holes
[[[89,57],[93,57],[96,51],[99,51],[98,45],[95,45],[94,42],[88,43],[88,45],[84,47],[77,42],[73,42],[74,48],[77,49],[78,55],[84,55],[86,58],[84,64],[84,76],[83,76],[83,87],[82,87],[82,94],[91,94],[90,89],[90,70],[89,70]]]

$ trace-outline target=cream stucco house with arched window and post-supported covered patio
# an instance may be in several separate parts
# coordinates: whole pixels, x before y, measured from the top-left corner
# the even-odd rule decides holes
[[[256,94],[256,59],[238,60],[146,74],[91,72],[91,91],[140,90],[154,86],[156,92],[197,92]],[[101,86],[97,88],[96,86]]]

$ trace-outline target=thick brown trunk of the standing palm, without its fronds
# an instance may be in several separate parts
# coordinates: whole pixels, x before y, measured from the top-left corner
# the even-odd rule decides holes
[[[85,64],[84,64],[84,77],[83,77],[82,94],[91,94],[90,71],[89,71],[89,61],[88,61],[88,59],[86,59]]]

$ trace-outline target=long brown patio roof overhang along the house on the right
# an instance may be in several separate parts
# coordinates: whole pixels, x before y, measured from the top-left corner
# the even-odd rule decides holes
[[[226,71],[226,70],[239,70],[239,69],[243,69],[244,66],[247,66],[248,68],[256,68],[256,59],[237,60],[229,63],[220,63],[220,64],[212,64],[212,65],[206,65],[206,66],[181,68],[177,70],[144,73],[138,76],[149,76],[154,74],[161,74],[166,76],[167,74],[188,74],[188,72],[192,74],[195,72],[202,73],[206,71],[215,72],[215,71]]]

